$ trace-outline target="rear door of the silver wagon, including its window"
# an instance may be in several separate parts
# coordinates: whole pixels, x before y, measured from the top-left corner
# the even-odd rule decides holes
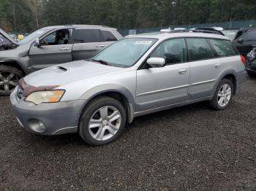
[[[222,69],[206,39],[187,38],[190,66],[189,100],[211,96]]]

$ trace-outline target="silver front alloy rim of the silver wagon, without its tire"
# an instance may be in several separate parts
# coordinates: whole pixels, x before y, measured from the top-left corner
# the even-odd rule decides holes
[[[92,114],[89,121],[89,133],[98,140],[111,139],[120,128],[121,113],[114,106],[103,106]]]

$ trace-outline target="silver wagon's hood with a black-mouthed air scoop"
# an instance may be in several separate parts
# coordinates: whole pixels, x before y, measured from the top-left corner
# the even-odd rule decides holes
[[[75,61],[36,71],[26,76],[24,81],[34,87],[61,86],[122,69],[89,61]]]

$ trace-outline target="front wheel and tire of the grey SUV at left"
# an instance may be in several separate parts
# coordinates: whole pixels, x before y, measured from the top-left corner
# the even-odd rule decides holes
[[[0,65],[0,95],[10,95],[23,76],[15,67]]]

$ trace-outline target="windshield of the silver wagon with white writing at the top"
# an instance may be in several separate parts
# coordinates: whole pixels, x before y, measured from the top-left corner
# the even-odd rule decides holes
[[[94,56],[94,60],[105,61],[111,66],[133,66],[155,42],[157,39],[121,39],[99,52],[98,55]]]

